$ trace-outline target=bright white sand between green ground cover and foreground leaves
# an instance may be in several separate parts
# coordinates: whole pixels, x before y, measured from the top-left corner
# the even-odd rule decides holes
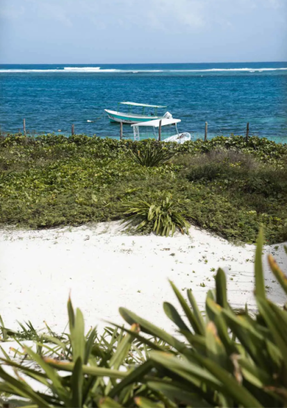
[[[284,269],[283,245],[265,247]],[[1,231],[0,314],[6,327],[17,320],[43,320],[61,332],[67,324],[67,298],[80,307],[87,327],[101,319],[123,323],[120,306],[131,309],[160,327],[172,325],[163,301],[177,305],[167,279],[180,288],[192,288],[201,307],[206,291],[214,288],[212,270],[227,272],[233,307],[247,302],[255,308],[254,245],[238,247],[192,227],[190,236],[174,238],[128,236],[119,222],[44,231]],[[194,272],[193,272],[194,271]],[[265,262],[270,298],[279,304],[285,296]],[[200,286],[204,284],[205,287]],[[186,291],[183,292],[184,294]],[[180,310],[180,308],[178,308]]]

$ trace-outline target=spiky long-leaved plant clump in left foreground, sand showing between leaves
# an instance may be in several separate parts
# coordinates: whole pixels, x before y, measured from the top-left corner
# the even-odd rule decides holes
[[[149,341],[142,345],[133,336],[137,337],[138,325],[125,335],[122,328],[108,327],[101,336],[96,329],[85,335],[83,315],[79,309],[74,312],[71,300],[68,314],[69,334],[60,338],[46,336],[48,343],[36,343],[37,352],[18,341],[24,351],[15,354],[22,363],[10,358],[2,348],[6,358],[1,358],[0,397],[1,393],[13,395],[13,403],[26,402],[33,407],[121,406],[112,397],[129,407],[136,396],[147,397],[147,386],[140,389],[137,383],[151,369],[146,361],[151,348]],[[6,336],[13,336],[12,331],[1,329]],[[161,341],[157,349],[164,350]],[[15,375],[10,375],[5,366],[13,368]]]

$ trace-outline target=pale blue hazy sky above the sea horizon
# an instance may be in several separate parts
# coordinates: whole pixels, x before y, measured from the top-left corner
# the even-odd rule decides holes
[[[287,60],[287,0],[0,0],[0,63]]]

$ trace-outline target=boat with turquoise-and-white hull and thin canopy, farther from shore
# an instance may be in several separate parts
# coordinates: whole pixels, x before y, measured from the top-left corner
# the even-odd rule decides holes
[[[105,112],[108,113],[108,117],[111,122],[134,124],[139,122],[148,122],[151,119],[163,119],[163,117],[172,117],[169,112],[165,113],[165,115],[163,116],[158,116],[158,108],[166,108],[166,106],[162,105],[136,104],[136,102],[119,102],[119,104],[117,105],[117,111],[110,111],[110,109],[105,109]],[[127,105],[128,112],[121,112],[120,105]],[[133,113],[134,107],[142,108],[142,113]],[[146,114],[147,108],[152,108],[154,111],[152,113]]]

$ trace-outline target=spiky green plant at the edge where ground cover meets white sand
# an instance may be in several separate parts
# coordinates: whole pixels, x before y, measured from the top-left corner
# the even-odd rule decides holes
[[[188,234],[189,223],[178,210],[178,203],[172,201],[170,195],[165,195],[158,202],[151,203],[144,199],[137,202],[127,202],[123,204],[126,207],[125,214],[126,225],[136,225],[137,229],[152,225],[153,231],[158,235],[172,236],[176,229],[179,229],[183,234],[185,231]]]

